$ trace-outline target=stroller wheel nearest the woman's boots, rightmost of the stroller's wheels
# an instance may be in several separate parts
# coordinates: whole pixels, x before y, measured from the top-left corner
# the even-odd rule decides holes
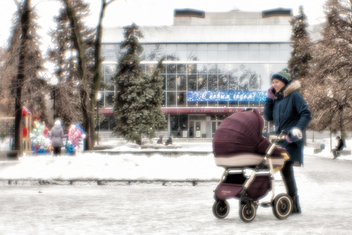
[[[285,219],[289,217],[292,211],[292,201],[290,196],[286,193],[279,193],[274,198],[272,204],[272,212],[278,219]]]

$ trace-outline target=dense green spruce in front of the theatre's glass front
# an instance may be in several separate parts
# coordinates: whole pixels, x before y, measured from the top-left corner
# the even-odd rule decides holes
[[[140,68],[139,56],[143,48],[138,42],[143,34],[136,24],[124,29],[125,40],[121,42],[121,49],[125,53],[114,76],[117,85],[114,131],[126,140],[142,144],[142,135],[152,138],[155,131],[166,128],[166,119],[161,111],[163,78],[159,73],[162,61],[152,75],[145,74]]]

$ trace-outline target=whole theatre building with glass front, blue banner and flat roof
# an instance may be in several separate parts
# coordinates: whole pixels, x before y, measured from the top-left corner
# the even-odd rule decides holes
[[[140,26],[144,38],[141,67],[151,74],[165,57],[162,111],[168,121],[164,136],[178,127],[183,137],[211,138],[221,120],[245,107],[263,111],[272,74],[287,67],[290,58],[290,9],[263,12],[174,11],[171,26]],[[112,113],[112,76],[121,54],[122,28],[103,33],[101,101]],[[110,120],[110,118],[109,118]],[[189,130],[193,129],[193,136]]]

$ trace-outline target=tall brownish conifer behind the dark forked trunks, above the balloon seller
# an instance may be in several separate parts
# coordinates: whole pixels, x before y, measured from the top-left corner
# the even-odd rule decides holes
[[[87,77],[93,77],[94,71],[94,30],[84,25],[84,19],[89,14],[89,4],[82,0],[73,0],[72,8],[77,14],[77,24],[80,25],[82,43],[87,58]],[[48,50],[49,58],[55,63],[55,75],[58,84],[55,86],[55,117],[63,120],[65,126],[72,123],[82,123],[82,106],[78,86],[75,49],[70,36],[70,22],[65,9],[54,17],[56,29],[50,31],[54,47]],[[52,97],[54,99],[54,97]]]

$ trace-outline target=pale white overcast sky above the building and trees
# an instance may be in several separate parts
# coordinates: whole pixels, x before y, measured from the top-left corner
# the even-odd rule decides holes
[[[95,26],[98,19],[101,0],[90,0],[92,14],[87,20]],[[125,26],[135,22],[137,25],[172,25],[175,8],[194,8],[203,11],[222,12],[234,9],[242,11],[263,11],[272,8],[291,8],[293,14],[303,5],[309,24],[323,21],[323,4],[325,0],[116,0],[108,6],[103,21],[105,27]],[[13,13],[16,11],[14,0],[0,0],[0,45],[4,45],[10,36]],[[49,28],[55,27],[52,17],[58,14],[58,0],[32,0],[40,16],[39,24],[45,34]],[[43,35],[43,41],[45,42]]]

